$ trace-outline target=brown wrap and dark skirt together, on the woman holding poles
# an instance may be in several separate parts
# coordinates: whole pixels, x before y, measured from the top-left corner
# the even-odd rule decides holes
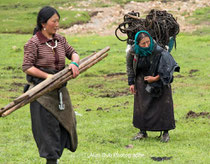
[[[43,80],[37,81],[36,84]],[[58,90],[63,94],[64,110],[59,109]],[[30,109],[32,131],[41,157],[59,159],[64,148],[76,151],[76,117],[65,86],[39,97],[30,104]]]

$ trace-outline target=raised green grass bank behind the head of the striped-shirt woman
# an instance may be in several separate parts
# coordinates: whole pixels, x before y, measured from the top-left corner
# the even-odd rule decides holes
[[[90,20],[87,11],[74,11],[67,9],[76,3],[69,1],[5,1],[0,2],[0,19],[2,20],[0,33],[32,33],[36,26],[39,10],[46,5],[55,7],[60,16],[60,27],[67,28],[75,23],[85,23]]]

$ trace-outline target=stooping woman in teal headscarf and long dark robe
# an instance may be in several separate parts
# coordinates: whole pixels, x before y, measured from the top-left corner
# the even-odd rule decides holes
[[[169,141],[175,128],[170,83],[179,66],[168,51],[161,48],[147,31],[135,35],[135,44],[127,51],[127,75],[134,94],[133,125],[140,132],[133,138],[147,138],[147,131],[162,131],[162,142]]]

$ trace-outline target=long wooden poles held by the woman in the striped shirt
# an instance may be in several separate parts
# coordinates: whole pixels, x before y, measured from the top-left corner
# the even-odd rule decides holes
[[[110,48],[106,47],[98,51],[97,53],[94,53],[80,60],[79,62],[80,73],[86,71],[88,68],[92,67],[93,65],[104,59],[108,55],[106,52],[109,50]],[[59,88],[60,86],[62,86],[62,84],[66,83],[68,80],[72,78],[73,78],[72,71],[68,67],[66,67],[60,72],[54,74],[51,78],[48,78],[43,82],[39,83],[38,85],[34,86],[30,90],[22,94],[21,96],[13,100],[13,102],[1,108],[0,117],[8,116],[13,111],[36,100],[45,93],[48,93],[56,88]]]

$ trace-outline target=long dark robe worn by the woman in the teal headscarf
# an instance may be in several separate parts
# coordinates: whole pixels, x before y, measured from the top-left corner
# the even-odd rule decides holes
[[[167,55],[157,45],[152,54],[146,57],[135,54],[133,47],[127,53],[128,83],[134,84],[137,91],[134,95],[133,125],[141,130],[163,131],[175,128],[171,85],[164,85],[159,97],[153,97],[145,90],[147,84],[144,77],[150,75],[153,59],[161,53]]]

